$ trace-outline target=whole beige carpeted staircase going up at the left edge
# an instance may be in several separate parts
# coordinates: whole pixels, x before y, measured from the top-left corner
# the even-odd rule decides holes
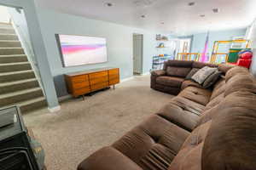
[[[46,100],[13,26],[0,23],[0,108],[9,105],[24,113],[46,106]]]

